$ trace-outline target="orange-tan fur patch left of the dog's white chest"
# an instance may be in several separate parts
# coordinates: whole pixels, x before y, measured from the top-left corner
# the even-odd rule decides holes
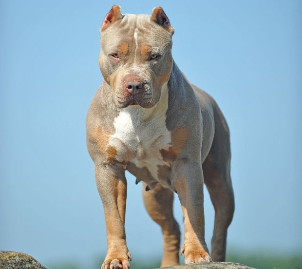
[[[92,131],[92,138],[94,142],[97,144],[100,152],[103,156],[111,163],[114,164],[116,149],[109,145],[109,136],[110,134],[104,132],[101,127],[95,127]]]

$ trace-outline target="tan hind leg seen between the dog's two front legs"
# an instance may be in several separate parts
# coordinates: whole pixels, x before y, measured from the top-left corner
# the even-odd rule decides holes
[[[157,184],[146,192],[143,184],[145,207],[151,218],[160,225],[164,240],[164,254],[161,267],[179,264],[179,226],[173,216],[173,192]]]

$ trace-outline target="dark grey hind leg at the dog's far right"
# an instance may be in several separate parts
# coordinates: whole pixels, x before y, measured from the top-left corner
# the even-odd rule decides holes
[[[234,194],[230,177],[230,142],[227,123],[219,108],[214,109],[215,135],[210,152],[204,161],[204,182],[215,209],[211,240],[213,261],[225,261],[227,228],[234,212]]]

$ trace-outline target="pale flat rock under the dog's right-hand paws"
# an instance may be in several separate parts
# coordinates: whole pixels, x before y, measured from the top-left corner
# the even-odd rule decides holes
[[[255,269],[238,263],[207,262],[163,267],[165,269]]]

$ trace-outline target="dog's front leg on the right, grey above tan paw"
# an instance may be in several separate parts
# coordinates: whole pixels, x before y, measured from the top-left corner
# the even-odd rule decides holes
[[[173,183],[185,217],[181,253],[185,263],[211,261],[205,241],[203,173],[199,162],[181,160],[173,168]]]

